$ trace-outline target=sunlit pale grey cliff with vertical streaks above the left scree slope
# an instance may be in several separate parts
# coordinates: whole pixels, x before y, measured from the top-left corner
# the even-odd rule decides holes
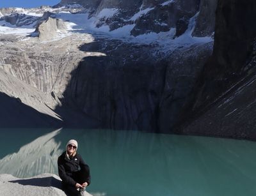
[[[70,79],[70,72],[85,56],[77,47],[86,36],[79,35],[72,41],[67,37],[54,42],[40,42],[33,38],[31,41],[16,40],[6,44],[6,40],[3,40],[0,67],[44,93],[54,92],[61,97]],[[92,38],[88,36],[87,41],[92,41]]]

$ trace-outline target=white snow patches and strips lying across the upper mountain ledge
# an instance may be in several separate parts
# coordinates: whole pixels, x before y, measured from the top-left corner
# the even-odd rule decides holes
[[[166,1],[163,4],[172,3],[172,1]],[[47,8],[48,9],[48,8]],[[163,47],[164,50],[172,50],[177,47],[186,47],[189,45],[193,45],[195,43],[207,43],[210,41],[213,41],[211,37],[193,37],[191,36],[191,33],[193,32],[193,29],[195,28],[195,19],[198,13],[194,17],[192,17],[189,20],[189,26],[187,31],[182,34],[181,36],[175,38],[175,32],[176,29],[172,28],[170,31],[167,32],[160,32],[160,33],[145,33],[141,34],[139,36],[132,36],[131,31],[135,27],[135,24],[129,24],[126,26],[122,26],[118,29],[115,29],[113,31],[110,31],[108,25],[104,25],[101,27],[96,27],[95,25],[97,22],[99,22],[100,17],[113,17],[116,13],[118,13],[118,9],[104,9],[101,10],[100,13],[95,17],[88,17],[89,13],[70,13],[67,10],[62,10],[62,8],[49,8],[52,9],[51,12],[55,13],[56,19],[62,19],[65,21],[65,24],[67,25],[67,32],[66,33],[60,33],[58,35],[59,38],[63,38],[65,36],[70,36],[70,34],[92,34],[94,37],[100,37],[100,38],[110,38],[110,39],[120,39],[125,42],[129,43],[138,43],[138,44],[151,44],[151,43],[157,43],[159,46]],[[135,21],[141,16],[148,13],[148,11],[153,10],[154,8],[146,8],[145,10],[142,10],[143,6],[141,6],[140,11],[138,13],[134,14],[129,21]],[[20,9],[22,11],[22,9]],[[54,10],[54,11],[53,11]],[[62,11],[61,11],[62,10]],[[44,10],[45,11],[45,10]],[[24,13],[32,15],[35,14],[36,16],[39,16],[39,14],[42,15],[42,12],[31,9],[31,10],[23,10]],[[5,25],[3,27],[3,25]],[[33,33],[35,31],[35,28],[33,27],[34,24],[31,24],[30,26],[23,26],[22,28],[17,28],[16,26],[12,26],[8,24],[5,21],[0,21],[0,34],[29,34]],[[161,26],[166,26],[165,23],[159,23]]]

